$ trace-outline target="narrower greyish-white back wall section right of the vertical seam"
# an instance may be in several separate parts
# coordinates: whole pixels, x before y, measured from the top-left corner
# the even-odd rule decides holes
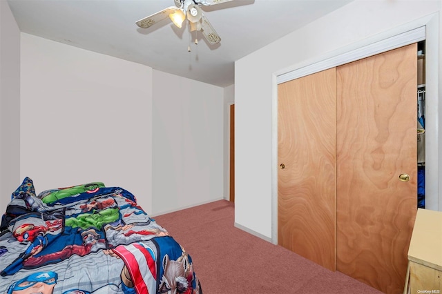
[[[153,215],[222,199],[223,88],[153,71]]]

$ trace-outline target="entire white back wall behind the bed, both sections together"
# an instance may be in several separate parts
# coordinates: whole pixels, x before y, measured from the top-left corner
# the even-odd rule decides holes
[[[8,196],[30,177],[121,186],[151,215],[223,198],[224,88],[25,33],[19,72]]]

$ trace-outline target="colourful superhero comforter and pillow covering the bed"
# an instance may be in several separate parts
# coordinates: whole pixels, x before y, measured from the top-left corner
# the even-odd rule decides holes
[[[100,182],[35,195],[1,219],[0,293],[202,293],[190,255],[135,196]]]

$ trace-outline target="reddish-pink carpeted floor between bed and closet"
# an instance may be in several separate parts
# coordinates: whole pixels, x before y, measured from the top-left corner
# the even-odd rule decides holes
[[[153,218],[191,255],[204,294],[381,293],[234,227],[227,200]]]

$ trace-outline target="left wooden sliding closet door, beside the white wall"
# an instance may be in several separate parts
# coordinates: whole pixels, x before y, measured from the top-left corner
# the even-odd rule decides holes
[[[336,69],[280,84],[278,244],[332,271],[335,161]]]

